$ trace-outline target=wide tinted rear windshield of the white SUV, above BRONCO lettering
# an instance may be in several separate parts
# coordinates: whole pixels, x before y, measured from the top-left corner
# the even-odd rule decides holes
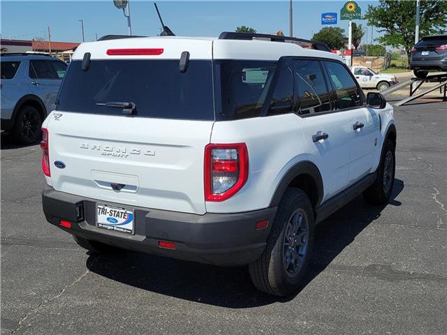
[[[92,60],[68,66],[57,110],[124,115],[122,108],[101,105],[134,103],[137,117],[214,120],[212,61],[189,62],[185,73],[179,60]]]

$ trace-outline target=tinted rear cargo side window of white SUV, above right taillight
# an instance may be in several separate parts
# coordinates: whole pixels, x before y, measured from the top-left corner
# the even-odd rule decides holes
[[[216,61],[222,113],[232,119],[258,117],[275,67],[274,61]]]

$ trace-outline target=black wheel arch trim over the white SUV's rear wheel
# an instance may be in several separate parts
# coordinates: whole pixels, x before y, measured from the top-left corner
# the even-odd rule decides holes
[[[312,179],[314,179],[316,190],[318,192],[318,200],[315,204],[315,208],[321,204],[323,200],[323,179],[321,178],[320,170],[316,165],[310,161],[302,161],[296,163],[291,168],[288,169],[286,174],[282,177],[281,181],[277,186],[277,189],[273,193],[272,200],[270,200],[269,207],[276,207],[281,201],[282,196],[286,192],[286,189],[291,184],[293,179],[299,177],[301,174],[308,174]]]

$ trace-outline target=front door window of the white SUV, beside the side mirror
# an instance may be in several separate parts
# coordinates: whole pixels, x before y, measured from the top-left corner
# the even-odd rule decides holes
[[[329,80],[337,94],[337,105],[340,110],[362,105],[360,91],[348,70],[335,61],[325,61]]]

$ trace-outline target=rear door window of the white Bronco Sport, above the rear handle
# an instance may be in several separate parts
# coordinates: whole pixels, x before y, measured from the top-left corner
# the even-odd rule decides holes
[[[319,61],[298,60],[293,67],[300,97],[299,114],[330,110],[329,94]]]

